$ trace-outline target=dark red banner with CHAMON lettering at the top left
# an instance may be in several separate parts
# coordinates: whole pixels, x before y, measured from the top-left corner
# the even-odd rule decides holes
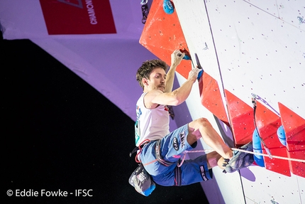
[[[49,35],[116,33],[109,0],[40,0]]]

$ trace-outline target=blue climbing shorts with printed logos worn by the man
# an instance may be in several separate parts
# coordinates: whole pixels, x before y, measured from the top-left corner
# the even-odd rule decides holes
[[[191,151],[197,144],[189,145],[188,133],[188,124],[185,124],[160,139],[160,156],[167,163],[172,163],[170,166],[157,161],[155,147],[159,140],[150,141],[143,147],[140,161],[153,181],[160,186],[185,186],[212,178],[212,171],[207,166],[206,154],[196,159],[185,160],[181,167],[177,167],[179,159],[184,156],[183,152]]]

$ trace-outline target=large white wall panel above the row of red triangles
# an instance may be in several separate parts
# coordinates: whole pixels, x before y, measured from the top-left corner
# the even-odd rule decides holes
[[[207,7],[224,87],[248,104],[254,92],[305,117],[304,30],[245,1]]]

